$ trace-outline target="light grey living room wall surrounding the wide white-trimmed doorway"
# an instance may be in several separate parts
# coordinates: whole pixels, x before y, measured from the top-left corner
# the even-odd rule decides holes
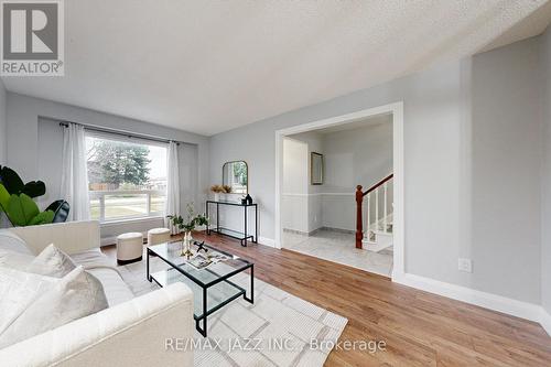
[[[539,303],[540,278],[539,273],[538,277],[534,273],[540,268],[540,251],[533,246],[538,235],[528,236],[528,240],[523,236],[526,231],[539,233],[539,220],[521,219],[525,224],[522,233],[511,231],[507,225],[510,224],[508,216],[517,205],[512,197],[523,193],[517,191],[520,188],[517,184],[523,182],[517,179],[518,172],[539,176],[538,172],[532,172],[533,147],[527,147],[527,141],[531,141],[537,150],[540,134],[533,129],[532,121],[514,119],[515,121],[508,120],[501,125],[499,120],[506,116],[491,114],[490,110],[503,107],[506,108],[506,114],[511,114],[519,109],[528,111],[526,119],[534,117],[530,109],[533,107],[533,99],[538,99],[539,88],[538,85],[532,86],[530,91],[526,85],[533,83],[534,75],[539,75],[539,69],[533,65],[538,43],[538,39],[530,39],[507,46],[505,52],[496,50],[473,58],[437,65],[415,75],[214,136],[210,140],[210,172],[213,175],[218,174],[225,161],[248,161],[250,193],[261,204],[260,236],[274,238],[274,131],[402,100],[406,271]],[[485,61],[495,60],[498,53],[507,58],[499,60],[495,69],[494,65]],[[488,94],[484,99],[488,104],[488,110],[485,112],[484,106],[476,105],[473,106],[476,114],[471,114],[473,77],[485,74],[487,83],[493,78],[510,77],[509,83],[501,86],[510,86],[510,82],[514,82],[523,93],[518,93],[519,89],[511,86],[496,94]],[[491,85],[500,86],[497,82]],[[479,95],[483,86],[478,83],[475,87]],[[494,101],[493,96],[496,99]],[[508,106],[497,101],[503,98]],[[528,123],[528,128],[522,129],[523,136],[520,139],[521,147],[528,148],[529,152],[520,155],[516,149],[503,149],[499,143],[504,137],[509,139],[520,130],[517,123]],[[484,125],[487,127],[484,128]],[[500,152],[499,159],[495,161],[500,181],[489,181],[499,185],[505,182],[504,187],[507,190],[493,187],[495,192],[488,194],[493,202],[500,198],[504,203],[509,203],[509,211],[498,213],[486,211],[480,205],[472,205],[472,186],[480,183],[488,187],[486,183],[489,182],[478,169],[485,166],[490,158],[495,158],[491,151],[485,153],[476,150],[476,154],[473,154],[474,128],[482,129],[487,143],[495,145]],[[478,142],[474,145],[479,147]],[[511,163],[522,166],[512,166]],[[476,172],[471,172],[475,169]],[[487,169],[493,170],[491,166]],[[532,218],[531,213],[539,211],[533,205],[530,194],[518,213],[530,214],[529,217]],[[482,211],[482,214],[474,211]],[[493,213],[493,218],[486,216],[489,213]],[[491,235],[483,235],[478,228],[472,228],[474,217],[489,220],[487,229]],[[473,238],[475,235],[482,237]],[[483,239],[488,239],[491,244]],[[487,256],[489,252],[494,256]],[[519,256],[520,252],[522,253]],[[457,270],[457,259],[465,253],[473,258],[473,273]],[[486,277],[487,280],[483,279]]]

